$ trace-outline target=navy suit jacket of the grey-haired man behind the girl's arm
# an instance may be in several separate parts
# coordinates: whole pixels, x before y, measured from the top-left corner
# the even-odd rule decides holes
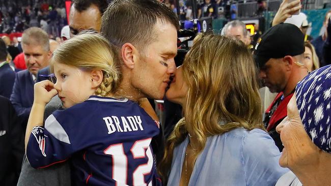
[[[17,115],[25,121],[29,118],[33,104],[34,84],[35,82],[33,81],[32,75],[28,70],[19,71],[16,73],[10,101],[12,102]]]

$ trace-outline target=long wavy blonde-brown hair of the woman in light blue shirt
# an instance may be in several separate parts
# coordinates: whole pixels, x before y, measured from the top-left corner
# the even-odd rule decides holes
[[[159,165],[165,181],[174,148],[183,142],[188,131],[198,140],[200,153],[209,136],[236,128],[264,129],[257,68],[251,52],[239,40],[199,35],[185,56],[183,76],[188,86],[184,118],[168,138]]]

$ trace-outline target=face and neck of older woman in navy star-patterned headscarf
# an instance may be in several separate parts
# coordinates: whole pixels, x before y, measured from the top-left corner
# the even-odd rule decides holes
[[[295,94],[287,105],[287,117],[277,126],[284,145],[279,164],[296,170],[298,167],[312,165],[316,161],[319,148],[309,138],[304,125],[302,125]]]

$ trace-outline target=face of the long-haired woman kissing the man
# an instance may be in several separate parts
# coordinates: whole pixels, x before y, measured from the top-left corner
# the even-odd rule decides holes
[[[175,77],[170,84],[170,88],[166,92],[166,97],[169,101],[183,105],[188,91],[188,86],[183,76],[183,66],[179,66],[176,70]]]

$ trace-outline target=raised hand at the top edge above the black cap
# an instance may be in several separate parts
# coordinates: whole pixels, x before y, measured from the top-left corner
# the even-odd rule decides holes
[[[272,26],[284,22],[287,18],[291,17],[295,12],[301,9],[300,0],[295,0],[291,3],[288,2],[289,0],[284,0],[281,4],[272,20]]]

